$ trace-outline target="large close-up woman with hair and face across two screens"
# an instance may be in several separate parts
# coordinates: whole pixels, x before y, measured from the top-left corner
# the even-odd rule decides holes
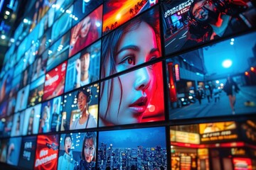
[[[102,78],[161,57],[159,14],[152,10],[149,12],[120,26],[103,39]],[[159,86],[156,77],[159,72],[159,64],[151,64],[103,81],[100,86],[99,125],[142,122]]]

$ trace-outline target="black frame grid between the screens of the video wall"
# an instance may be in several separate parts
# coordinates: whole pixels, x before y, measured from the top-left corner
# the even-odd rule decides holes
[[[75,3],[75,1],[73,1],[73,3],[70,4],[67,8],[70,8],[70,6],[72,6],[74,3]],[[207,117],[207,118],[189,118],[189,119],[181,119],[181,120],[169,120],[169,110],[167,109],[168,108],[168,101],[169,101],[169,98],[168,98],[168,95],[167,95],[168,87],[167,87],[167,82],[166,82],[167,80],[165,79],[165,77],[167,77],[167,75],[166,75],[166,60],[171,58],[171,57],[176,57],[177,55],[181,55],[183,53],[190,52],[191,50],[196,50],[196,49],[201,48],[201,47],[206,47],[208,45],[212,45],[212,44],[215,44],[217,42],[221,42],[223,40],[227,40],[228,38],[233,38],[234,36],[245,35],[247,33],[254,32],[256,29],[252,28],[250,30],[246,30],[246,31],[243,31],[243,32],[240,32],[240,33],[235,33],[235,35],[229,35],[229,36],[227,36],[225,38],[219,38],[218,40],[213,40],[213,41],[210,41],[210,42],[205,42],[205,43],[203,43],[201,45],[197,45],[195,47],[190,47],[190,48],[185,49],[185,50],[174,52],[173,54],[170,54],[170,55],[165,55],[164,33],[163,33],[163,27],[162,27],[162,22],[163,21],[162,21],[162,18],[161,18],[161,15],[162,15],[161,12],[163,11],[163,8],[161,6],[162,3],[163,3],[163,1],[159,0],[159,3],[156,4],[156,6],[153,7],[153,8],[159,8],[159,24],[160,24],[159,28],[160,28],[160,35],[161,35],[161,57],[159,57],[158,59],[156,59],[154,61],[147,62],[147,63],[144,63],[144,64],[140,64],[138,66],[132,67],[131,69],[127,69],[125,71],[118,72],[116,74],[112,74],[112,75],[110,75],[110,77],[99,79],[98,81],[95,81],[95,82],[92,82],[90,84],[87,84],[86,86],[90,86],[90,85],[93,85],[93,84],[100,84],[100,82],[102,82],[102,81],[105,81],[105,80],[108,80],[108,79],[112,79],[112,78],[117,77],[117,76],[119,76],[121,74],[126,74],[128,72],[132,72],[132,71],[134,71],[136,69],[139,69],[139,68],[142,68],[142,67],[146,67],[146,66],[148,66],[150,64],[154,64],[156,62],[161,62],[162,63],[162,72],[163,72],[163,86],[164,86],[164,111],[165,111],[165,120],[164,121],[160,121],[160,122],[158,121],[158,122],[153,122],[153,123],[138,123],[138,124],[132,124],[132,125],[115,125],[115,126],[109,126],[109,127],[97,127],[97,128],[86,129],[86,130],[68,130],[68,131],[38,133],[36,135],[26,135],[26,136],[36,136],[36,141],[37,141],[37,136],[38,135],[59,135],[59,137],[60,137],[60,134],[69,133],[69,132],[73,132],[73,133],[76,133],[76,132],[96,132],[97,133],[97,142],[98,142],[99,132],[102,132],[102,131],[137,129],[137,128],[165,127],[165,129],[166,129],[166,151],[167,151],[166,154],[167,154],[167,165],[168,165],[167,167],[168,167],[168,169],[170,169],[171,168],[171,152],[169,152],[169,148],[171,147],[171,144],[170,144],[170,142],[171,142],[170,141],[170,134],[169,134],[170,126],[173,126],[173,125],[190,125],[190,124],[197,124],[197,123],[210,123],[210,122],[220,122],[220,121],[235,121],[236,119],[238,119],[238,120],[255,119],[256,118],[255,114],[254,115],[252,115],[252,114],[249,115],[248,114],[248,115],[230,115],[230,116],[223,115],[223,116],[221,116],[221,119],[220,119],[220,117]],[[105,4],[105,1],[103,1],[103,4],[100,4],[100,6],[104,5],[104,4]],[[97,8],[98,7],[99,6],[97,6]],[[147,9],[146,11],[149,11],[150,9],[151,8]],[[146,11],[140,13],[140,15],[142,15],[143,13],[146,13]],[[90,13],[88,13],[88,15],[89,14]],[[59,16],[58,18],[60,18],[60,17],[61,16]],[[134,18],[137,18],[137,17],[134,17]],[[127,22],[129,22],[129,21],[127,21]],[[125,22],[125,23],[127,23],[127,22]],[[125,23],[123,23],[123,24],[125,24]],[[72,29],[73,27],[74,26],[72,24],[72,27],[70,29]],[[48,28],[48,29],[51,29],[51,28]],[[68,30],[68,31],[70,31],[70,30]],[[63,35],[64,34],[65,33],[63,33]],[[102,37],[99,38],[98,40],[102,39],[107,34],[102,35]],[[63,35],[59,36],[58,39],[61,38]],[[55,40],[55,42],[57,40]],[[54,42],[51,42],[51,45],[53,45],[53,43]],[[91,45],[92,45],[92,43],[91,43]],[[80,52],[80,51],[78,51],[78,52]],[[65,61],[68,61],[68,59],[65,60]],[[50,72],[50,70],[48,70],[48,72]],[[73,89],[72,91],[68,91],[66,93],[63,93],[61,96],[65,95],[65,94],[68,94],[68,93],[71,93],[73,91],[77,91],[77,90],[78,89]],[[51,99],[49,99],[49,100],[51,100]],[[43,102],[47,102],[49,100],[46,100],[46,101],[43,101]],[[98,100],[100,100],[100,99],[98,99]],[[100,101],[98,101],[98,105],[100,105]],[[98,108],[99,108],[99,106],[98,106]],[[25,110],[26,109],[24,109],[23,111],[25,111]],[[14,114],[16,114],[16,113],[14,113]],[[97,120],[97,121],[99,121],[99,120]],[[98,125],[99,124],[97,123],[97,126]],[[26,136],[16,136],[16,137],[26,137]],[[9,138],[10,137],[1,137],[1,140],[8,140]],[[58,141],[58,142],[60,142],[60,141]],[[98,149],[98,146],[99,145],[97,145],[97,149]],[[34,162],[35,162],[35,159],[34,159]],[[18,169],[17,166],[11,166],[11,165],[3,163],[3,162],[0,162],[0,164],[2,166],[4,166],[6,169]]]

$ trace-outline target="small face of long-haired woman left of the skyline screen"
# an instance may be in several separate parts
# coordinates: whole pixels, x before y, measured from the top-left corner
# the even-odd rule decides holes
[[[95,154],[95,145],[93,144],[92,138],[85,140],[83,152],[85,155],[85,161],[88,163],[92,162]]]

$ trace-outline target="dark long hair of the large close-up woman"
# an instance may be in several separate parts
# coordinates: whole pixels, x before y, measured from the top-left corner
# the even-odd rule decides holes
[[[160,45],[160,33],[159,33],[159,11],[156,11],[157,8],[152,8],[150,11],[147,13],[142,14],[142,16],[139,16],[138,18],[135,18],[132,21],[129,21],[129,23],[126,23],[116,30],[112,31],[109,35],[106,35],[105,38],[102,40],[102,58],[100,61],[101,65],[101,78],[108,77],[114,73],[117,72],[116,69],[116,59],[115,57],[117,56],[117,47],[119,43],[122,40],[122,37],[124,34],[129,33],[132,30],[136,30],[139,28],[141,23],[147,23],[153,30],[156,35],[156,41],[158,42],[157,44]],[[159,51],[161,53],[161,47],[159,47]],[[109,72],[107,72],[106,67],[109,67]],[[118,114],[119,115],[119,110],[120,110],[120,105],[122,102],[122,83],[119,77],[118,79],[118,84],[121,89],[121,95],[119,98],[119,103],[118,103]],[[114,81],[113,79],[110,79],[108,81],[103,81],[100,86],[100,100],[102,99],[102,94],[103,94],[103,89],[105,89],[105,84],[107,83],[108,86],[108,97],[107,97],[107,109],[105,111],[105,118],[107,117],[107,111],[110,109],[110,103],[111,103],[111,98],[113,96],[113,85]]]

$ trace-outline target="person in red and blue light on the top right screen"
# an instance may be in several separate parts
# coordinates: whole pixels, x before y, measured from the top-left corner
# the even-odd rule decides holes
[[[195,0],[188,14],[188,42],[206,42],[251,28],[250,18],[241,16],[249,0]],[[251,21],[250,21],[251,20]]]

